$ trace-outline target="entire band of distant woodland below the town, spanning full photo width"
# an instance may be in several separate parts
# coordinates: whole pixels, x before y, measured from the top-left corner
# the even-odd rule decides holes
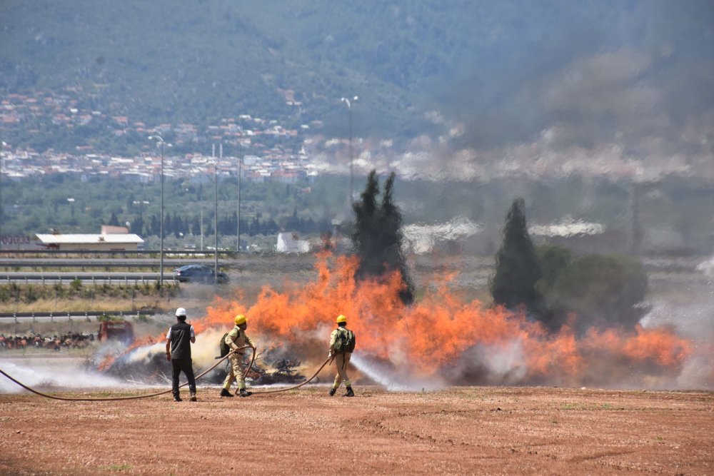
[[[167,179],[164,186],[165,236],[213,234],[215,189],[206,177]],[[355,178],[362,191],[365,177]],[[348,202],[349,178],[319,176],[301,183],[241,184],[241,235],[275,236],[278,231],[302,235],[349,226],[354,214]],[[99,233],[103,224],[126,225],[144,238],[159,236],[160,186],[122,178],[53,175],[3,178],[3,236],[33,236],[56,228],[61,233]],[[516,195],[518,194],[518,195]],[[508,178],[488,183],[400,181],[394,202],[403,225],[446,223],[468,218],[483,226],[498,243],[511,201],[524,198],[528,223],[586,221],[601,223],[622,240],[633,231],[633,213],[643,252],[710,253],[714,248],[711,204],[714,187],[693,178],[670,176],[635,186],[629,181],[586,181],[568,177],[548,182]],[[236,236],[238,183],[218,183],[218,235]],[[611,243],[613,246],[623,243]]]

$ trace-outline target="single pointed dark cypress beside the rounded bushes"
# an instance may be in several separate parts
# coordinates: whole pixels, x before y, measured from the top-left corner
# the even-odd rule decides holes
[[[528,235],[526,204],[516,198],[506,216],[503,242],[496,253],[496,273],[491,278],[493,302],[513,309],[524,305],[537,318],[543,313],[542,300],[535,283],[540,279],[540,265]]]

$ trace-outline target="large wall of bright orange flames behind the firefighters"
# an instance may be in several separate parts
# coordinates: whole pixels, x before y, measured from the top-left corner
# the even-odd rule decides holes
[[[435,375],[458,365],[466,350],[479,346],[487,349],[488,360],[488,353],[508,352],[515,343],[518,353],[511,365],[526,369],[518,383],[583,383],[594,373],[591,368],[603,362],[623,372],[635,366],[671,375],[681,370],[692,349],[690,341],[666,328],[591,329],[578,338],[572,326],[565,325],[551,334],[526,315],[486,309],[478,300],[463,302],[449,292],[453,275],[446,273],[429,287],[435,291],[426,291],[417,303],[406,306],[398,298],[398,273],[357,282],[356,258],[329,252],[317,258],[316,280],[306,285],[288,281],[282,293],[265,287],[251,306],[216,298],[206,316],[193,321],[196,332],[227,330],[233,317],[243,313],[248,335],[257,335],[262,348],[283,345],[311,358],[326,353],[334,320],[344,314],[361,355],[388,360],[408,375]]]

